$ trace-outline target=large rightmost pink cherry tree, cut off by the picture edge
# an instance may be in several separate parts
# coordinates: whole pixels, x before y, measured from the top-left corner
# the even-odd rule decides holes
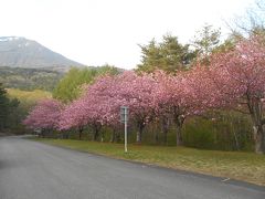
[[[215,54],[209,76],[215,85],[215,105],[233,107],[251,115],[255,151],[265,153],[263,129],[265,98],[265,40],[252,36],[241,41],[233,51]],[[219,104],[216,103],[219,102]]]

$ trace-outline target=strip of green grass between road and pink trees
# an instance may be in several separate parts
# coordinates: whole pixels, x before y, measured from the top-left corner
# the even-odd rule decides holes
[[[186,147],[163,147],[95,143],[72,139],[36,140],[114,158],[155,164],[168,168],[232,178],[265,186],[265,156],[253,153],[215,151]]]

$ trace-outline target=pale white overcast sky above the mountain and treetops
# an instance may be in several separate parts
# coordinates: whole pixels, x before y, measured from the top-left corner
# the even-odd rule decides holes
[[[192,41],[205,23],[221,28],[255,0],[0,0],[0,36],[24,36],[86,65],[134,69],[138,44],[171,33]]]

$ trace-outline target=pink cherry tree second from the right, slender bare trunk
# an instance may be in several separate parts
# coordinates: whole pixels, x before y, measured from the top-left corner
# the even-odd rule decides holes
[[[156,112],[163,115],[166,121],[169,116],[173,118],[177,145],[182,145],[182,126],[186,118],[201,111],[195,87],[190,83],[193,76],[188,72],[171,75],[161,71],[156,72],[153,76],[158,82],[153,92]]]

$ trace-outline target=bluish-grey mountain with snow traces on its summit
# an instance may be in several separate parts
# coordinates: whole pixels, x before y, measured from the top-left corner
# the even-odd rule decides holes
[[[40,43],[19,36],[0,36],[0,66],[67,71],[81,63],[51,51]]]

